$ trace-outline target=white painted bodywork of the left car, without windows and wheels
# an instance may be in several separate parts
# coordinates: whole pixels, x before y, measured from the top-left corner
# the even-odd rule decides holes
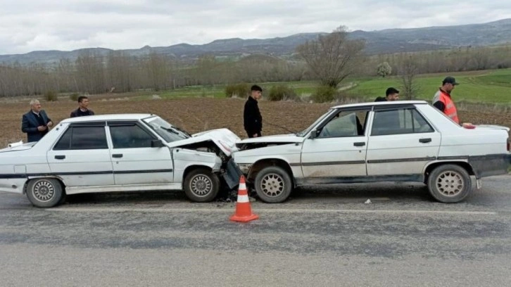
[[[94,115],[74,117],[55,125],[40,141],[0,149],[0,191],[24,193],[27,181],[53,177],[63,182],[68,194],[108,191],[181,190],[187,167],[200,166],[220,172],[222,159],[209,151],[186,148],[212,142],[227,157],[236,149],[239,137],[229,129],[214,129],[187,139],[167,142],[144,119],[149,114]],[[70,125],[90,122],[136,122],[163,146],[113,148],[110,127],[104,125],[108,148],[55,150]],[[183,148],[185,147],[185,148]],[[115,158],[115,155],[122,155]],[[65,157],[63,159],[58,157]]]

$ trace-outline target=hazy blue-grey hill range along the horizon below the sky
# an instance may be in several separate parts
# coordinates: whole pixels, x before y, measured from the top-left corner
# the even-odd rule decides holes
[[[240,57],[253,54],[279,58],[292,56],[296,46],[316,39],[317,33],[294,34],[270,39],[219,39],[208,44],[177,44],[166,47],[144,46],[141,49],[120,50],[131,56],[144,56],[151,52],[162,53],[180,60],[193,60],[204,53],[215,56]],[[378,31],[357,30],[350,33],[353,39],[365,39],[368,54],[398,53],[448,49],[458,46],[488,46],[511,43],[511,19],[491,23],[424,27],[413,29],[388,29]],[[0,63],[21,64],[32,62],[55,63],[61,58],[75,60],[80,53],[90,51],[107,56],[111,49],[88,48],[74,51],[32,51],[25,54],[0,55]]]

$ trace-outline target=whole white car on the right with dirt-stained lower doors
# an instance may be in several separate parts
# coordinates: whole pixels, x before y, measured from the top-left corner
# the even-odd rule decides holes
[[[471,176],[506,174],[508,127],[462,127],[425,101],[335,106],[303,132],[244,139],[232,158],[259,198],[281,203],[301,184],[418,181],[443,203]]]

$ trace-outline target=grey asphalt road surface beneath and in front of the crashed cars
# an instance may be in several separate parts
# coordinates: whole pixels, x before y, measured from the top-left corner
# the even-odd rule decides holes
[[[46,210],[0,193],[0,286],[510,286],[510,186],[489,177],[457,204],[415,184],[308,186],[252,203],[246,224],[176,192]]]

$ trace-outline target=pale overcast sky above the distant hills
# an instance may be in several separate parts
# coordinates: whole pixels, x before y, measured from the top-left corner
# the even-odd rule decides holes
[[[0,54],[138,49],[511,18],[510,0],[0,0]]]

